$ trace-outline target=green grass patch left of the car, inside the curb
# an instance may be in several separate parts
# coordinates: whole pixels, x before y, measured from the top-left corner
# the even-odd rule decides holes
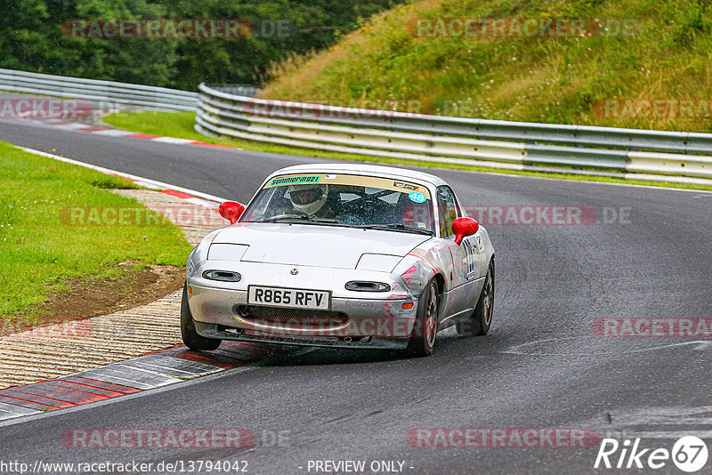
[[[190,252],[173,225],[71,225],[84,206],[142,207],[110,188],[130,181],[38,157],[0,142],[0,316],[36,318],[36,306],[68,291],[67,279],[115,277],[118,262],[184,265]],[[125,267],[125,266],[122,266]]]

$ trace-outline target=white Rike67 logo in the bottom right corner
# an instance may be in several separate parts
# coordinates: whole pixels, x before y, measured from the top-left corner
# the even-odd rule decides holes
[[[605,469],[652,469],[665,467],[672,461],[681,471],[700,471],[708,460],[708,448],[704,440],[695,436],[677,439],[671,450],[664,447],[642,448],[640,439],[603,439],[594,468]]]

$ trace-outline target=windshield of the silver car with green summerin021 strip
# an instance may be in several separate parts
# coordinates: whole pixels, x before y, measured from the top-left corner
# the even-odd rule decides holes
[[[240,221],[433,234],[432,210],[428,189],[408,181],[349,174],[293,174],[268,181]]]

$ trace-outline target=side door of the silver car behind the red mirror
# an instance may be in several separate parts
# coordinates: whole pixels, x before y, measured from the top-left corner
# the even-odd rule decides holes
[[[462,244],[455,243],[452,221],[462,217],[463,213],[457,204],[455,193],[449,186],[438,187],[437,201],[440,235],[449,246],[453,261],[452,275],[449,276],[451,290],[446,296],[443,309],[445,318],[448,318],[473,307],[474,295],[479,285],[478,278],[481,276],[484,246],[479,231],[464,238]]]

